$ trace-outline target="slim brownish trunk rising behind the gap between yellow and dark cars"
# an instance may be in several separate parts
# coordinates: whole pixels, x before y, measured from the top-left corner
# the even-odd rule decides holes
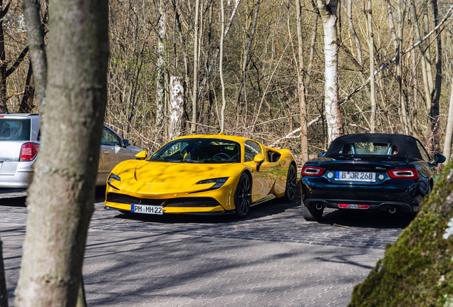
[[[296,0],[297,13],[297,42],[299,65],[297,70],[298,79],[298,97],[299,109],[301,112],[301,155],[302,162],[308,161],[308,127],[307,127],[307,107],[305,103],[305,85],[303,84],[303,37],[302,37],[302,21],[301,21],[301,0]]]

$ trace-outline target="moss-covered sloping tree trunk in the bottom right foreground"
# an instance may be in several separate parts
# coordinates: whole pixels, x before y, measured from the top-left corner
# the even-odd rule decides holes
[[[453,306],[453,162],[349,306]]]

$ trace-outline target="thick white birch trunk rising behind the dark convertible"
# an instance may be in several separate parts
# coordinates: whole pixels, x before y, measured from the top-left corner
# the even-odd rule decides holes
[[[326,83],[324,85],[326,121],[329,144],[343,135],[343,120],[338,105],[338,0],[316,0],[324,29],[324,55],[326,58]]]

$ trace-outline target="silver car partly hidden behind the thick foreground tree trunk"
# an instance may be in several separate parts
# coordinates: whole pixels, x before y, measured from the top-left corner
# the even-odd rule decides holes
[[[39,151],[38,114],[0,114],[0,188],[28,188]],[[142,151],[104,125],[96,185],[105,185],[110,171]]]

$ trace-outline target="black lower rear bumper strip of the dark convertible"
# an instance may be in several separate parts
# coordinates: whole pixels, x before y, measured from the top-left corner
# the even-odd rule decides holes
[[[385,211],[392,210],[400,212],[417,212],[420,210],[420,205],[410,205],[408,203],[396,202],[396,201],[379,201],[379,200],[345,200],[335,199],[326,200],[321,198],[308,198],[303,201],[307,208],[316,208],[316,205],[321,204],[325,208],[332,209],[352,209],[352,210],[373,210],[373,211]],[[357,208],[359,205],[362,208]],[[348,207],[348,208],[345,208]],[[393,211],[393,212],[395,212]]]

